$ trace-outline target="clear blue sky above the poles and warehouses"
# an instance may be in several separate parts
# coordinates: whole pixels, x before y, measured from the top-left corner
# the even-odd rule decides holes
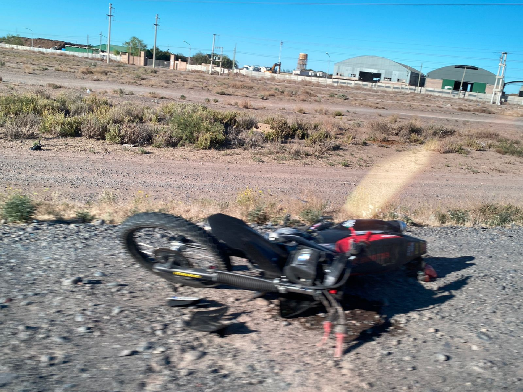
[[[523,80],[523,3],[414,0],[408,4],[447,5],[405,5],[405,0],[375,1],[380,5],[340,5],[344,0],[113,0],[111,43],[137,36],[152,47],[154,17],[159,14],[159,48],[187,55],[185,40],[192,53],[209,53],[212,34],[219,34],[216,45],[223,47],[225,54],[232,57],[237,44],[240,66],[272,65],[278,61],[280,40],[283,69],[294,69],[298,54],[303,52],[309,54],[309,67],[326,70],[328,52],[331,72],[334,62],[377,55],[417,69],[423,63],[424,73],[454,64],[496,73],[499,54],[506,51],[506,81]],[[472,3],[505,5],[463,5]],[[35,37],[82,44],[87,34],[92,43],[99,42],[100,31],[107,36],[108,1],[4,0],[0,4],[0,35],[18,32],[30,37],[24,29],[28,27]]]

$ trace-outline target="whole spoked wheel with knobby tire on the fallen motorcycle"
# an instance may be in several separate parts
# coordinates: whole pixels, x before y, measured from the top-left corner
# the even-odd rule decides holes
[[[231,260],[206,230],[178,216],[144,212],[122,223],[121,243],[149,271],[154,263],[230,270]],[[188,284],[188,281],[180,281]]]

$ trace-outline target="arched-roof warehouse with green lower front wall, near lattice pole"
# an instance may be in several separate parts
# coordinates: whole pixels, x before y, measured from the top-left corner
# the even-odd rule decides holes
[[[463,83],[461,82],[463,80]],[[427,74],[426,87],[492,94],[496,75],[473,65],[449,65]]]

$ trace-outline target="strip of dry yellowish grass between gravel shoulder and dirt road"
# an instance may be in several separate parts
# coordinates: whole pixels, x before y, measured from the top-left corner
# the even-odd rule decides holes
[[[0,194],[0,206],[4,206],[7,200],[12,199],[13,194],[13,192]],[[109,223],[120,223],[128,216],[144,211],[162,211],[196,222],[204,220],[213,213],[221,212],[259,224],[281,223],[287,214],[294,224],[312,224],[323,214],[334,215],[337,221],[369,217],[368,212],[353,212],[348,216],[342,204],[333,204],[310,192],[297,197],[283,197],[263,189],[249,187],[238,191],[229,200],[223,201],[197,199],[190,203],[182,203],[177,200],[154,198],[144,191],[123,195],[106,190],[90,203],[77,204],[64,202],[59,193],[51,193],[49,189],[43,189],[40,194],[33,195],[27,201],[36,206],[34,218],[39,220],[77,220],[79,216],[87,216],[89,220],[102,218]],[[463,200],[454,204],[427,201],[409,205],[396,200],[374,212],[371,217],[385,220],[400,219],[411,224],[432,226],[523,225],[523,206],[514,202],[477,200]]]

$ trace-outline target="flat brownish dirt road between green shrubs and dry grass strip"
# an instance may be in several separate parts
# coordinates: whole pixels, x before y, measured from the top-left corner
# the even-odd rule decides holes
[[[303,197],[312,193],[343,203],[369,171],[368,168],[242,164],[233,162],[231,157],[215,155],[180,160],[173,159],[168,152],[85,154],[16,149],[4,151],[0,156],[4,183],[30,192],[50,188],[64,200],[74,202],[92,200],[104,190],[119,191],[124,198],[132,198],[141,190],[162,200],[230,200],[248,186],[270,190],[276,197]],[[402,199],[452,203],[489,197],[513,201],[521,198],[521,176],[474,173],[459,165],[441,170],[440,155],[433,156],[431,166],[420,170],[414,181],[405,184]],[[387,170],[386,164],[374,176],[385,185],[388,181],[401,181]]]

